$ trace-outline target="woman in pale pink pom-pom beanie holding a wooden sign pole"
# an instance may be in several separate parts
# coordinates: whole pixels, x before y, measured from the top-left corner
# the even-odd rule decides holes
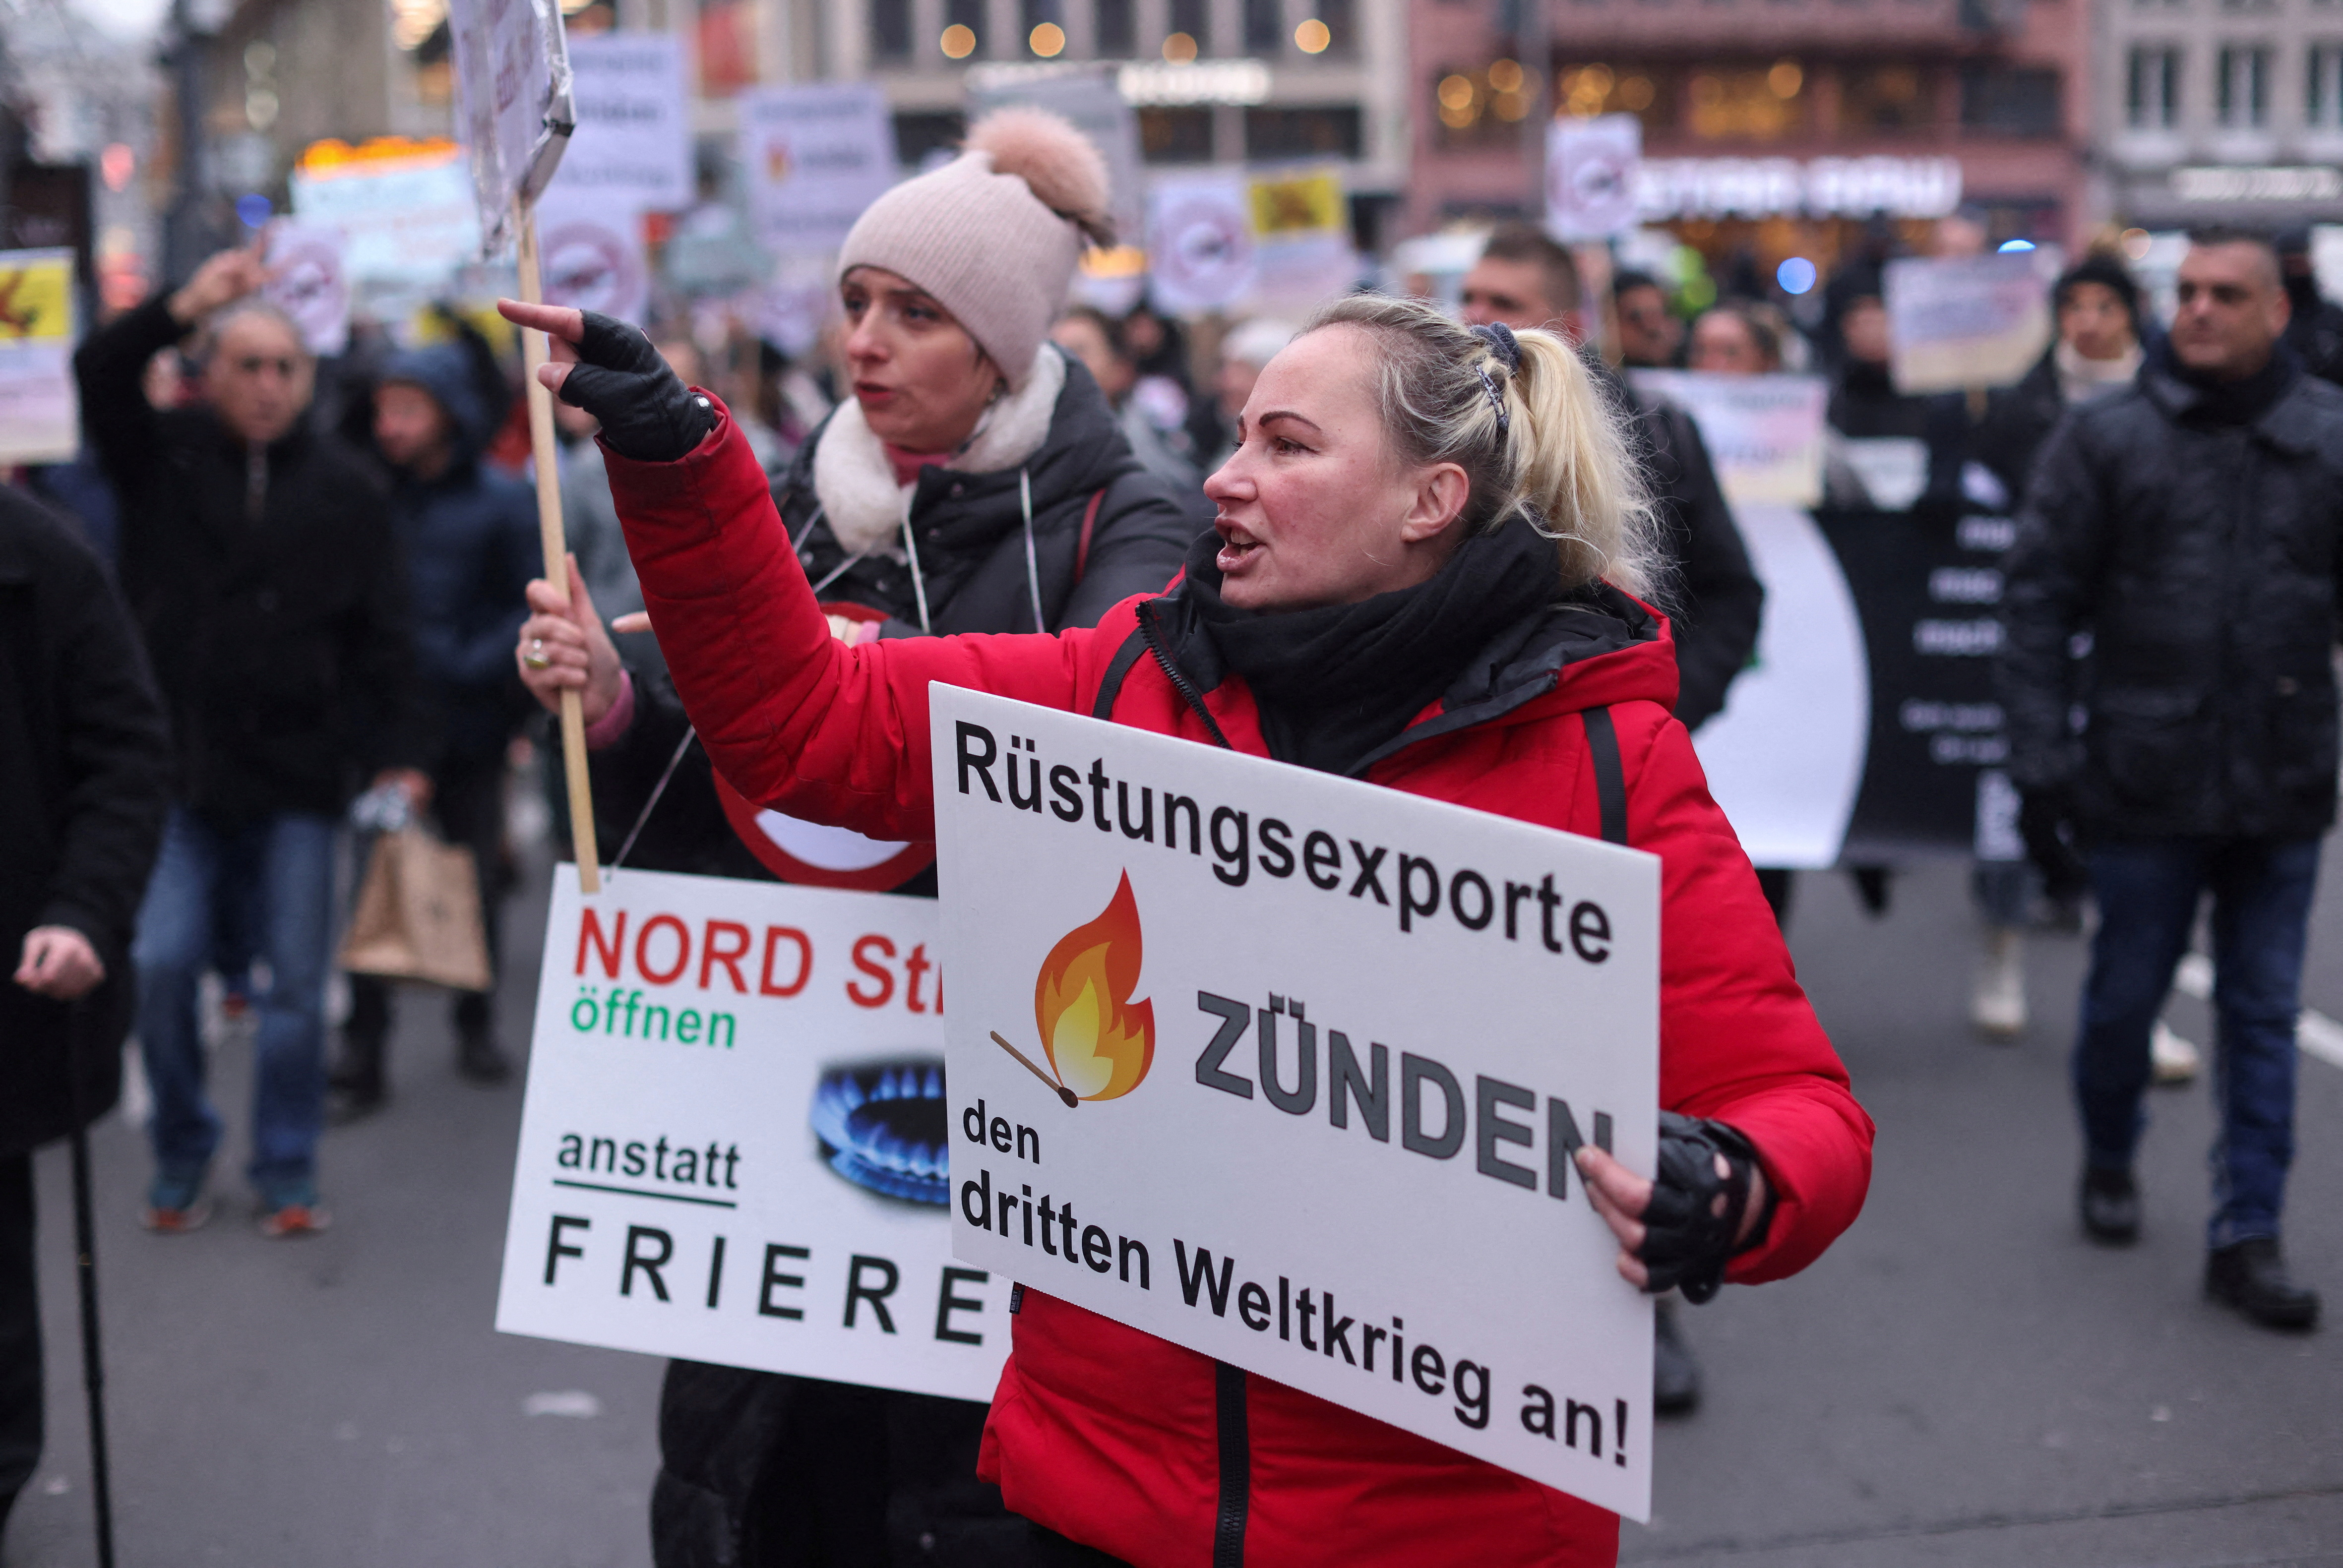
[[[1097,380],[1045,340],[1080,253],[1075,213],[1106,204],[1099,155],[1033,113],[982,120],[970,148],[848,234],[853,398],[773,483],[836,635],[855,642],[1031,630],[1036,614],[1047,630],[1094,626],[1172,581],[1195,534]],[[626,565],[616,520],[612,534]],[[513,656],[548,710],[565,687],[581,691],[600,841],[633,844],[626,863],[651,870],[935,895],[928,846],[832,844],[815,865],[790,853],[804,823],[776,832],[726,802],[675,687],[633,649],[621,661],[595,616],[607,574],[583,577],[567,607],[551,584],[530,586]],[[670,1362],[654,1561],[867,1563],[890,1540],[933,1535],[923,1561],[998,1563],[996,1538],[1022,1545],[1024,1526],[975,1481],[982,1427],[984,1406],[961,1399]]]

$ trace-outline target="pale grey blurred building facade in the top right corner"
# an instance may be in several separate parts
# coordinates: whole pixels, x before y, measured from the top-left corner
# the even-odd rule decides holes
[[[2343,220],[2343,2],[2104,0],[2102,202],[2149,230]]]

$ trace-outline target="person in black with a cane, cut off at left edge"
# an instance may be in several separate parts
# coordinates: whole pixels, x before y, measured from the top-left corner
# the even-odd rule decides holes
[[[73,527],[0,488],[0,1528],[40,1463],[33,1151],[115,1104],[171,741]]]

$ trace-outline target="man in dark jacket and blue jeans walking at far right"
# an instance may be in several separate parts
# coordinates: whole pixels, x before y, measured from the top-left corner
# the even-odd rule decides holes
[[[2045,870],[2081,851],[2099,902],[2074,1057],[2083,1226],[2139,1235],[2149,1029],[2209,891],[2221,1137],[2205,1289],[2301,1329],[2320,1301],[2287,1277],[2277,1221],[2303,938],[2336,816],[2343,391],[2301,373],[2284,328],[2270,246],[2193,237],[2170,340],[2036,462],[2001,680],[2029,851]],[[2085,630],[2076,691],[2069,642]]]

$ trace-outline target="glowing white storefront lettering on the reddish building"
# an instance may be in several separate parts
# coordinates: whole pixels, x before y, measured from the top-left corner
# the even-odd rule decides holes
[[[1647,157],[1647,223],[1666,218],[1945,218],[1961,204],[1954,157]]]

